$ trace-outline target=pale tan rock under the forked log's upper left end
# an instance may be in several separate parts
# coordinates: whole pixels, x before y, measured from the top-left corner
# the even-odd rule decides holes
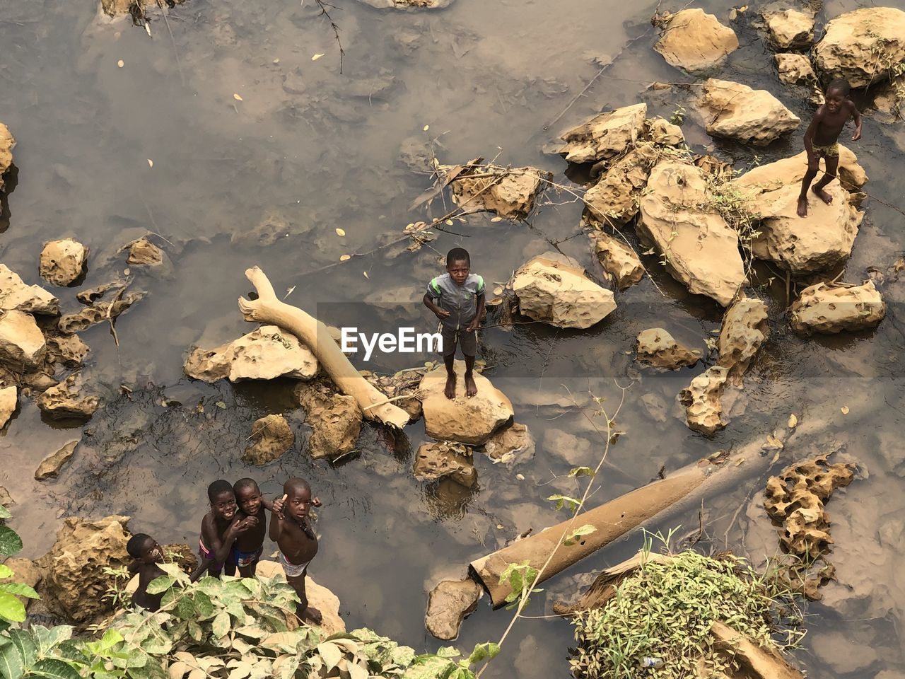
[[[318,373],[318,360],[295,335],[275,325],[262,325],[215,349],[193,349],[183,369],[188,377],[205,382],[311,379]]]

